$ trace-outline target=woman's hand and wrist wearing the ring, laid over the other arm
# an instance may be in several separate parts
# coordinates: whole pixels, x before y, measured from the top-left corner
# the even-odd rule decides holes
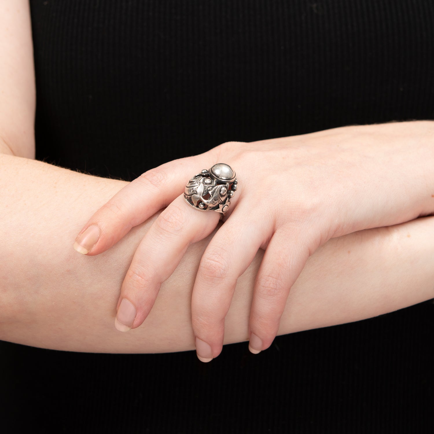
[[[91,217],[74,247],[102,253],[167,206],[122,283],[116,327],[138,327],[187,247],[219,221],[219,213],[197,212],[185,203],[187,181],[215,163],[229,164],[238,189],[199,264],[192,325],[198,357],[216,357],[237,278],[262,248],[250,312],[250,350],[260,352],[273,342],[289,289],[319,246],[434,212],[432,133],[433,122],[419,121],[224,143],[142,174]]]

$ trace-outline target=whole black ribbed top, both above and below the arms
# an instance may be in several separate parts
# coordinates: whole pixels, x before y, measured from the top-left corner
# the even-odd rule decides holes
[[[36,158],[132,181],[225,141],[434,119],[432,0],[31,0]],[[409,289],[411,290],[411,289]],[[251,355],[1,342],[15,431],[429,432],[434,305]],[[413,411],[417,408],[417,411]],[[3,425],[4,426],[4,425]],[[12,426],[12,425],[11,425]]]

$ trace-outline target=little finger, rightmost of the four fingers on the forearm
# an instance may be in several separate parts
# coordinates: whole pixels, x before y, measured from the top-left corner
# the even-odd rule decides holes
[[[267,349],[277,335],[289,289],[309,257],[299,230],[276,230],[256,276],[250,310],[250,352]]]

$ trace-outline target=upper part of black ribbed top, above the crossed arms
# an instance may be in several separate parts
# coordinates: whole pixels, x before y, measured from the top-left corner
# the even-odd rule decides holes
[[[32,1],[37,158],[132,180],[225,141],[434,118],[429,0]]]

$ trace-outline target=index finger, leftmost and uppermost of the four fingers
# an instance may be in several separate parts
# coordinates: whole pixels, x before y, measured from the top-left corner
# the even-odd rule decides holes
[[[209,154],[204,153],[169,161],[141,174],[92,215],[79,232],[74,249],[89,256],[109,249],[132,227],[170,204],[209,160]]]

